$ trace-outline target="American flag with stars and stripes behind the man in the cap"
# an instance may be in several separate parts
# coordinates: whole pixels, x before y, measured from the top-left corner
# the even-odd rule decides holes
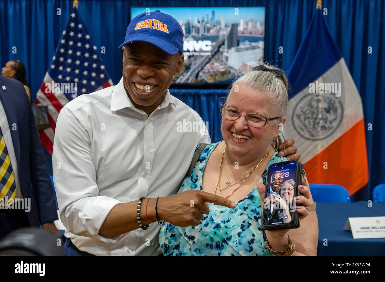
[[[63,106],[78,95],[113,85],[98,53],[74,7],[35,101],[48,106],[51,127],[40,132],[40,140],[51,156],[56,120]]]

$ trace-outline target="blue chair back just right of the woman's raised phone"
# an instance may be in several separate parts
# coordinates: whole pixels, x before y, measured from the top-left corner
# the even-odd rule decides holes
[[[348,190],[341,185],[309,184],[315,202],[350,203]]]

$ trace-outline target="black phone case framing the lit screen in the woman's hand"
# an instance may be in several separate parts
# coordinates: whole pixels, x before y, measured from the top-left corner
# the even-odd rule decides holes
[[[285,162],[281,162],[281,163],[275,163],[275,164],[271,164],[271,166],[273,166],[273,165],[282,166],[282,165],[288,164],[290,162],[293,162],[293,161],[285,161]],[[295,171],[294,197],[297,197],[297,196],[302,195],[298,191],[298,185],[300,185],[301,182],[302,182],[303,164],[301,164],[298,161],[295,161],[295,162],[297,163],[297,168],[296,168],[296,171]],[[265,186],[266,186],[266,183],[267,183],[267,177],[270,174],[270,167],[271,166],[269,166],[269,169],[268,169],[267,173],[263,177],[263,184]],[[267,190],[267,187],[266,187],[266,190]],[[265,191],[265,198],[266,198],[266,191]],[[261,203],[261,205],[263,206],[263,203]],[[301,206],[301,204],[296,204],[296,206]],[[300,227],[300,216],[299,216],[297,211],[295,211],[293,213],[293,217],[291,219],[291,222],[288,222],[288,223],[274,224],[274,225],[264,225],[263,224],[263,217],[264,217],[264,213],[262,213],[262,219],[261,219],[261,229],[262,230],[293,229],[293,228]]]

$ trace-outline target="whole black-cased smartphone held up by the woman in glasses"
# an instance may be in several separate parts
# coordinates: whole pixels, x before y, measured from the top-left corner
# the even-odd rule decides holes
[[[285,161],[269,166],[263,182],[266,186],[263,203],[263,230],[300,227],[295,197],[300,196],[303,165],[297,161]]]

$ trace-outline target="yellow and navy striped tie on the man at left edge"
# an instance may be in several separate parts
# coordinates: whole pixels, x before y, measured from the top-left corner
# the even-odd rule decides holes
[[[7,197],[7,205],[15,199],[16,183],[3,132],[0,127],[0,199]],[[3,200],[4,201],[4,200]]]

